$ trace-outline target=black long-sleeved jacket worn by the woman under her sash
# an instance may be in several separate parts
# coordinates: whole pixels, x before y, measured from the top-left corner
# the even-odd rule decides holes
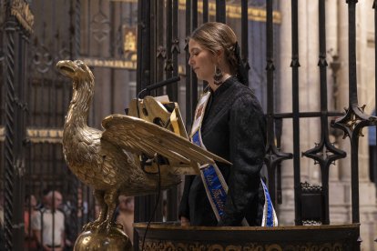
[[[233,165],[217,163],[228,186],[224,215],[217,221],[200,176],[186,176],[179,216],[191,226],[260,226],[263,190],[260,169],[266,144],[266,119],[249,87],[231,76],[209,98],[201,126],[206,148]]]

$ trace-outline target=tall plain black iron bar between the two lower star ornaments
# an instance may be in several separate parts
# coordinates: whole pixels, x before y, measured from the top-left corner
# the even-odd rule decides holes
[[[302,225],[301,218],[301,166],[300,166],[300,108],[299,108],[299,12],[298,0],[291,0],[292,31],[292,112],[293,112],[293,170],[295,224]]]

